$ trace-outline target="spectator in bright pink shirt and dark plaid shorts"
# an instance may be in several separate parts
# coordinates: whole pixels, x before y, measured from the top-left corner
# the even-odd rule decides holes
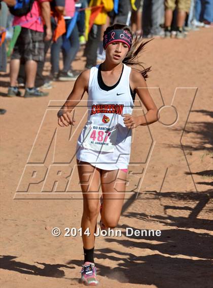
[[[24,97],[47,95],[34,87],[34,81],[37,62],[44,59],[44,40],[50,40],[52,37],[49,1],[51,0],[35,0],[30,12],[21,17],[14,17],[13,25],[20,25],[21,32],[11,55],[8,96],[21,96],[16,86],[21,59],[25,61],[26,73]],[[45,38],[44,23],[46,25]]]

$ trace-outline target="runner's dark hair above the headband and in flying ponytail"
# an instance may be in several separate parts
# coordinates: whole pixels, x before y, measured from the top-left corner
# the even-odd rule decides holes
[[[115,29],[127,30],[131,34],[131,36],[133,37],[129,26],[127,26],[125,24],[122,24],[122,23],[115,23],[115,24],[107,27],[107,29],[103,33],[103,36],[105,34],[107,34],[108,32],[110,32],[112,30],[115,30]],[[140,72],[140,74],[144,76],[145,80],[146,80],[146,78],[149,77],[148,76],[148,72],[151,71],[151,66],[148,67],[148,68],[145,68],[143,66],[144,63],[141,62],[141,61],[138,61],[138,58],[139,58],[139,54],[144,51],[145,45],[148,42],[150,42],[151,40],[143,41],[142,36],[140,36],[140,35],[135,36],[133,38],[133,41],[132,41],[131,49],[129,50],[129,52],[127,53],[126,57],[122,61],[124,64],[126,64],[128,66],[139,65],[140,68],[135,68],[134,67],[134,69],[137,70],[138,72]]]

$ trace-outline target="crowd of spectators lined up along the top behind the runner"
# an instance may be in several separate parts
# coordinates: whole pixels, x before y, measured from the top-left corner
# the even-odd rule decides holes
[[[102,62],[103,31],[113,23],[127,24],[133,35],[144,38],[180,39],[213,22],[213,0],[0,0],[0,4],[0,71],[6,72],[10,57],[10,97],[22,96],[21,87],[24,97],[47,96],[44,90],[52,88],[52,81],[76,80],[79,73],[72,62],[81,46],[85,46],[85,69]],[[11,22],[13,36],[7,47]],[[48,50],[51,71],[44,77]]]

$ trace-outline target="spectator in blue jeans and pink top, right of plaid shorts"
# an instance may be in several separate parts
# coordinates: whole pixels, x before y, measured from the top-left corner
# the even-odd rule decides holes
[[[78,1],[78,0],[76,0]],[[72,21],[75,14],[75,1],[65,0],[65,23],[66,23],[66,33],[68,27]],[[56,42],[52,44],[51,47],[51,74],[53,75],[53,80],[59,81],[73,81],[76,80],[79,74],[75,74],[74,71],[70,70],[70,65],[76,57],[79,51],[79,31],[77,23],[75,24],[72,33],[66,38],[66,33],[60,36]],[[63,55],[63,69],[59,70],[59,56],[62,47]]]

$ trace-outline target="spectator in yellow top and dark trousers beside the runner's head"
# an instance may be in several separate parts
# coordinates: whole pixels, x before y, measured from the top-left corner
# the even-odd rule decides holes
[[[101,36],[101,25],[105,24],[107,21],[107,12],[113,10],[113,0],[91,0],[89,7],[98,6],[103,4],[101,12],[95,18],[92,28],[88,34],[88,41],[85,47],[86,54],[86,69],[90,69],[92,66],[96,65],[97,60],[97,49],[100,43]]]

